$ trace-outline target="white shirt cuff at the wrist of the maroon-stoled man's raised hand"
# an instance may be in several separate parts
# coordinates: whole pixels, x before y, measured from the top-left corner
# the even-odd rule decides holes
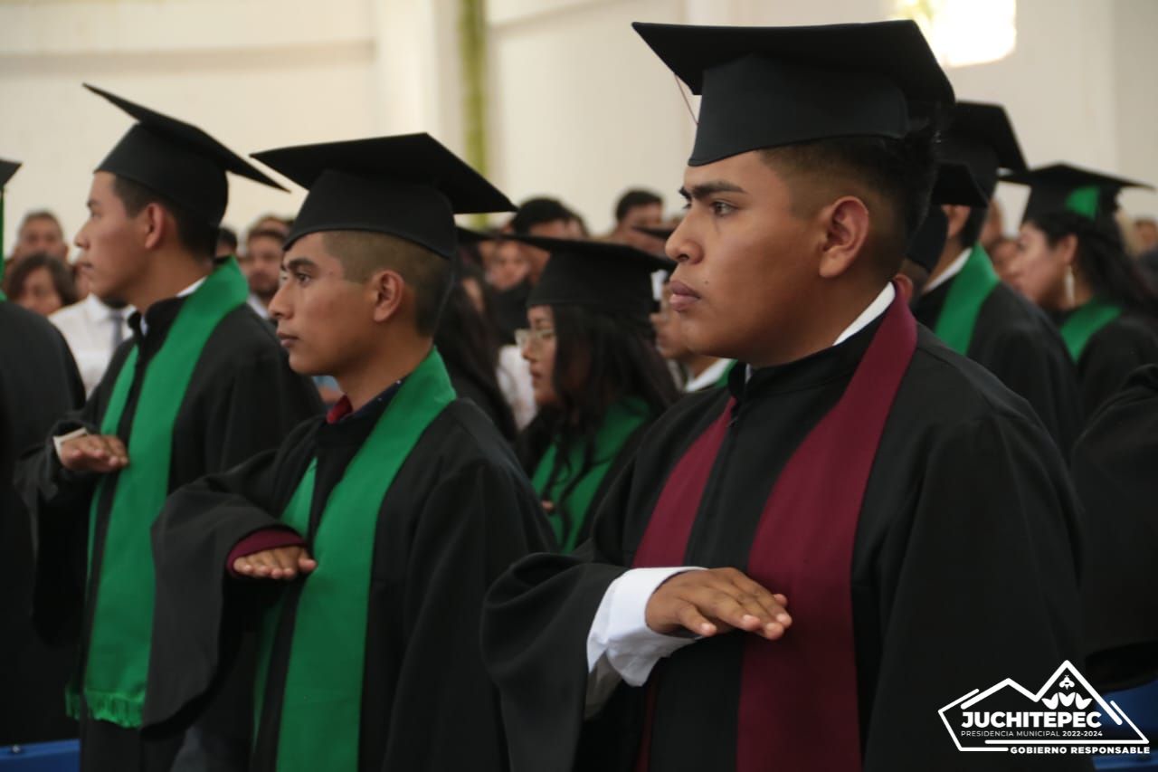
[[[655,588],[675,574],[690,570],[702,569],[695,566],[636,568],[611,582],[587,633],[588,673],[610,675],[606,668],[598,668],[606,661],[623,680],[639,686],[647,680],[657,662],[697,640],[657,633],[646,620],[647,602]]]

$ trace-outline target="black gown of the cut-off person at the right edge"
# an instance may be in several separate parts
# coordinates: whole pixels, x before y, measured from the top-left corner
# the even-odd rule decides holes
[[[1086,676],[1124,689],[1158,678],[1158,365],[1137,370],[1073,447],[1085,517]]]

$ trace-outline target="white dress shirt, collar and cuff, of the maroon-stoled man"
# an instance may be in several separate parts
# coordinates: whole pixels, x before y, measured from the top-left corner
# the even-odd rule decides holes
[[[881,290],[833,345],[843,343],[888,309],[896,292]],[[750,371],[749,371],[750,372]],[[587,700],[591,716],[602,708],[620,680],[640,686],[661,658],[695,643],[698,638],[662,635],[647,626],[645,612],[655,589],[675,574],[703,570],[698,566],[633,568],[611,582],[587,633]]]

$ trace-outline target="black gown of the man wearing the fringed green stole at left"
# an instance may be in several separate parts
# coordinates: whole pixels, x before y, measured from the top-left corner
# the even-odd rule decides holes
[[[140,319],[133,315],[133,334],[140,347],[139,365],[160,350],[183,303],[184,298],[170,298],[154,304],[146,316],[147,334],[144,336]],[[85,641],[93,624],[93,603],[86,598],[85,590],[85,545],[89,503],[98,475],[72,473],[61,467],[51,438],[80,427],[100,434],[113,384],[131,350],[129,341],[117,349],[85,407],[57,421],[47,438],[25,454],[17,472],[20,493],[32,516],[38,540],[34,620],[47,640],[79,638],[81,668]],[[144,372],[145,367],[138,366],[137,380],[117,429],[117,435],[125,440],[132,431]],[[290,370],[270,326],[249,306],[229,312],[206,341],[177,410],[169,490],[277,446],[294,425],[321,410],[317,389],[308,378]],[[132,463],[132,447],[129,458]],[[101,570],[112,503],[112,486],[103,490],[94,539],[94,575]],[[244,733],[248,713],[249,709],[236,699],[222,699],[207,720],[215,731]],[[103,727],[103,722],[94,724]]]

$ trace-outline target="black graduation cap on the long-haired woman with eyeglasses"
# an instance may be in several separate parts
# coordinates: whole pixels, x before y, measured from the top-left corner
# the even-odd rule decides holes
[[[551,255],[538,284],[530,290],[528,306],[592,306],[639,316],[646,322],[647,314],[655,309],[651,275],[675,267],[675,261],[625,243],[510,238]]]

